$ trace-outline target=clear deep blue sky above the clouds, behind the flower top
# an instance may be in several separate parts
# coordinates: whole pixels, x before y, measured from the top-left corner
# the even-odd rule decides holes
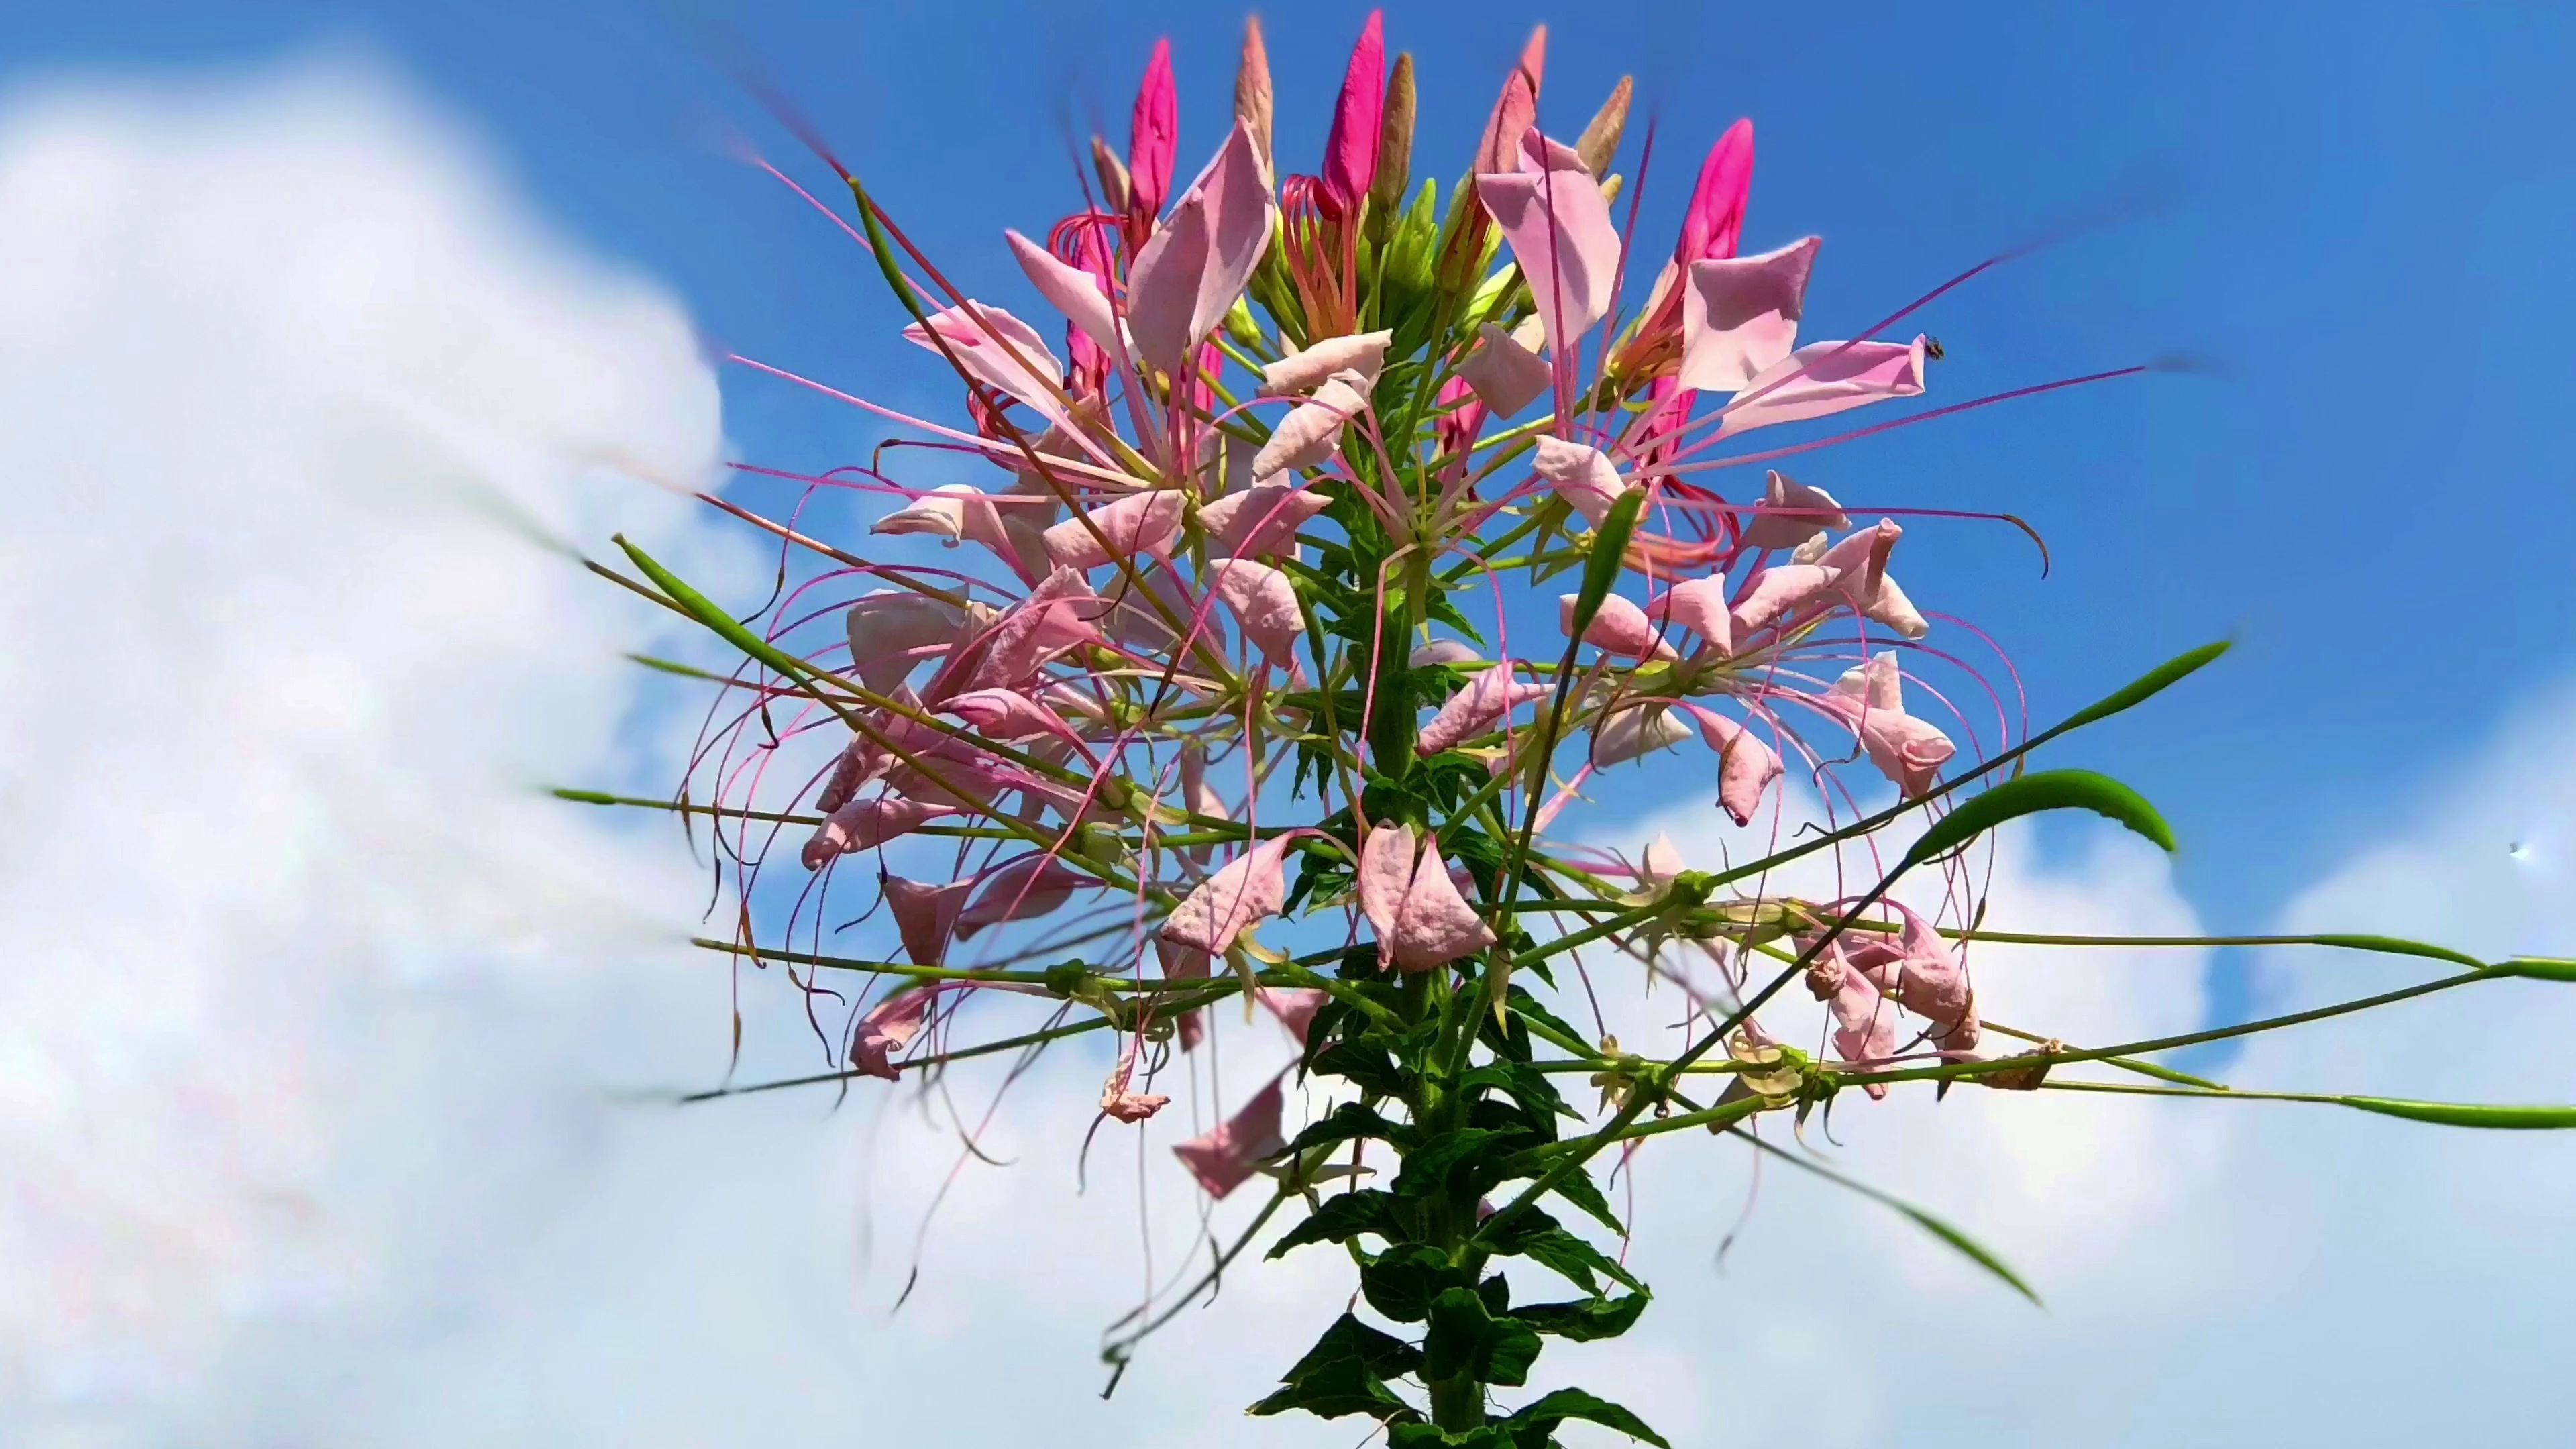
[[[1319,144],[1363,13],[1273,21],[1291,157]],[[2099,219],[1924,315],[1953,358],[1937,389],[2169,356],[2200,371],[1899,433],[1806,477],[1852,500],[2012,511],[2048,536],[2045,583],[2020,536],[1973,523],[1940,529],[1911,570],[1999,634],[2040,717],[2202,639],[2241,642],[2208,683],[2074,750],[2177,820],[2182,879],[2213,920],[2272,910],[2357,804],[2576,663],[2558,565],[2576,547],[2576,436],[2553,423],[2576,335],[2576,162],[2545,144],[2576,131],[2561,72],[2576,15],[1633,5],[1607,26],[1396,5],[1388,44],[1417,52],[1437,165],[1471,144],[1540,18],[1558,126],[1638,75],[1667,162],[1646,183],[1649,237],[1669,232],[1674,173],[1754,119],[1749,240],[1824,235],[1826,317],[1862,325],[1991,250]],[[1066,209],[1066,126],[1108,116],[1123,134],[1144,52],[1170,34],[1198,155],[1236,23],[1221,5],[111,3],[15,23],[0,64],[371,46],[484,126],[556,217],[667,278],[711,343],[904,397],[922,371],[884,345],[894,309],[855,253],[721,155],[739,126],[829,180],[726,70],[765,75],[969,286],[1007,294],[999,229]],[[876,441],[765,379],[724,387],[747,459],[827,467]],[[2499,851],[2514,828],[2499,822]]]

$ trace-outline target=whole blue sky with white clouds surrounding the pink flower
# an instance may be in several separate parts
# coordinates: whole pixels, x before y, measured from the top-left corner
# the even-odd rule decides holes
[[[2576,441],[2553,348],[2576,309],[2576,162],[2558,144],[2576,134],[2576,23],[1950,10],[1638,8],[1602,28],[1401,5],[1388,41],[1422,62],[1422,155],[1450,160],[1528,21],[1558,21],[1553,126],[1633,67],[1667,160],[1646,237],[1669,235],[1677,173],[1752,116],[1747,240],[1826,237],[1816,335],[2115,217],[1924,317],[1950,351],[1935,400],[2159,356],[2192,371],[1801,469],[1852,503],[1996,508],[2045,531],[2048,580],[2002,529],[1927,521],[1906,544],[1909,590],[1996,632],[2040,719],[2182,647],[2241,642],[2058,758],[2146,789],[2184,838],[2177,874],[2079,830],[2007,843],[2020,923],[2571,949]],[[688,539],[685,559],[724,578],[714,531],[670,500],[582,492],[595,480],[562,477],[549,443],[605,431],[685,472],[721,433],[729,456],[811,469],[881,436],[744,374],[721,379],[719,418],[701,345],[953,407],[848,242],[724,155],[739,126],[827,180],[729,64],[809,111],[969,289],[1020,297],[999,229],[1066,206],[1066,119],[1118,134],[1170,31],[1193,165],[1239,23],[1126,5],[714,15],[103,3],[0,36],[10,103],[67,77],[121,85],[0,113],[0,232],[21,248],[0,273],[0,487],[18,490],[0,603],[26,619],[0,655],[0,802],[49,846],[0,871],[0,1024],[33,1026],[0,1026],[0,1178],[18,1189],[0,1196],[0,1279],[36,1284],[0,1302],[0,1439],[36,1361],[72,1405],[44,1446],[783,1446],[860,1421],[976,1441],[1025,1436],[1033,1413],[1066,1444],[1206,1444],[1242,1431],[1244,1374],[1347,1289],[1293,1271],[1229,1287],[1211,1328],[1095,1408],[1090,1336],[1133,1276],[1100,1250],[1131,1240],[1131,1201],[1103,1178],[1069,1196],[1097,1062],[1051,1057],[1023,1093],[1007,1132],[1033,1171],[971,1178],[902,1320],[884,1302],[904,1235],[953,1158],[920,1114],[600,1101],[600,1080],[701,1085],[724,1057],[726,982],[667,949],[672,902],[696,908],[703,877],[677,874],[659,830],[523,792],[611,768],[649,727],[613,663],[644,624],[556,559],[410,513],[394,485],[422,459],[497,459],[562,531]],[[1273,21],[1291,157],[1321,139],[1360,15]],[[363,64],[319,83],[278,67],[317,52]],[[484,155],[461,157],[451,124]],[[31,155],[72,155],[108,201],[44,204]],[[281,255],[381,271],[374,291],[332,291]],[[57,315],[85,322],[41,333]],[[474,369],[448,361],[464,343]],[[456,578],[482,588],[448,596]],[[95,712],[52,709],[75,688]],[[185,730],[170,696],[191,701]],[[1654,779],[1613,779],[1602,815],[1669,804]],[[1687,833],[1705,815],[1662,820]],[[2509,861],[2535,830],[2543,853]],[[2071,1039],[2128,1039],[2380,980],[2342,957],[2239,957],[2202,995],[2200,954],[2074,964],[1994,962],[2022,972],[1994,998]],[[2568,995],[2481,985],[2236,1067],[2571,1101]],[[762,1006],[781,1034],[755,1057],[809,1052],[793,1003]],[[36,1085],[67,1096],[23,1093],[28,1044]],[[1865,1204],[1783,1183],[1716,1276],[1708,1204],[1731,1214],[1744,1183],[1692,1158],[1649,1178],[1641,1235],[1656,1279],[1682,1284],[1674,1310],[1600,1364],[1602,1387],[1680,1441],[1723,1423],[1744,1441],[2014,1444],[2076,1423],[2105,1444],[2398,1444],[2432,1426],[2532,1439],[2576,1413],[2550,1359],[2576,1281],[2568,1142],[2058,1098],[2007,1127],[1963,1096],[1937,1122],[1927,1101],[1852,1114],[1844,1160],[1996,1243],[2053,1318]],[[44,1116],[62,1101],[77,1111]],[[77,1232],[46,1235],[59,1222]],[[981,1250],[994,1225],[1025,1232],[1018,1250]],[[1054,1292],[1030,1292],[1030,1261]],[[1747,1305],[1777,1333],[1731,1338]],[[201,1382],[88,1434],[106,1418],[80,1413],[152,1382],[116,1333],[129,1318]],[[85,1338],[98,1323],[106,1351]],[[1025,1395],[989,1392],[994,1354]],[[1739,1385],[1759,1392],[1734,1403]],[[1847,1413],[1798,1418],[1842,1395]]]

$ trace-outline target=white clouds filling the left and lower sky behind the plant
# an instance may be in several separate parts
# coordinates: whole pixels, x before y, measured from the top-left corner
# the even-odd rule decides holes
[[[523,792],[667,758],[621,753],[639,694],[613,655],[654,624],[492,500],[706,562],[677,503],[616,477],[685,480],[716,446],[672,302],[345,75],[23,101],[0,232],[0,1434],[1355,1439],[1239,1418],[1347,1292],[1329,1253],[1247,1263],[1092,1397],[1095,1333],[1141,1281],[1136,1140],[1103,1134],[1072,1194],[1095,1055],[1012,1091],[987,1147],[1015,1165],[966,1173],[902,1315],[956,1160],[909,1093],[603,1096],[703,1083],[726,980],[665,949],[701,900],[667,833]],[[2550,946],[2568,704],[2391,810],[2388,846],[2290,920]],[[2112,833],[2058,859],[2007,838],[1994,892],[1996,926],[2195,923]],[[1976,969],[1991,1016],[2102,1042],[2197,1024],[2205,964],[1996,946]],[[2282,1000],[2383,980],[2264,972]],[[747,1006],[762,1067],[801,1062],[781,982]],[[2571,1011],[2478,987],[2233,1070],[2576,1098]],[[1170,1134],[1146,1147],[1159,1271],[1193,1235]],[[1855,1101],[1834,1137],[2050,1310],[1777,1165],[1713,1271],[1747,1183],[1700,1140],[1643,1160],[1656,1310],[1551,1369],[1692,1444],[2396,1444],[2576,1408],[2545,1372],[2576,1281],[2555,1140],[1989,1091]]]

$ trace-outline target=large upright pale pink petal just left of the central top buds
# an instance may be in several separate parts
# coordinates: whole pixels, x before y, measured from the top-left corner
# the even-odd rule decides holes
[[[1270,175],[1242,121],[1128,268],[1128,333],[1146,364],[1180,374],[1226,320],[1270,248]]]

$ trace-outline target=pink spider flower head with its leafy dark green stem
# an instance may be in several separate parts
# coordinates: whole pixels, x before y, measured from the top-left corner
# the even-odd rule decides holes
[[[693,761],[714,804],[683,792],[719,817],[742,900],[721,946],[806,967],[817,998],[824,969],[860,972],[868,990],[832,993],[848,1000],[827,1031],[840,1078],[1108,1031],[1100,1122],[1115,1124],[1170,1106],[1157,1085],[1203,1047],[1216,1003],[1260,1008],[1296,1062],[1175,1152],[1216,1199],[1267,1176],[1255,1227],[1306,1201],[1275,1250],[1350,1243],[1368,1305],[1422,1325],[1417,1343],[1345,1315],[1260,1405],[1368,1413],[1399,1444],[1543,1444],[1564,1418],[1651,1439],[1574,1390],[1489,1421],[1486,1390],[1525,1379],[1540,1333],[1597,1338],[1643,1307],[1546,1204],[1615,1230],[1587,1160],[1674,1127],[1754,1140],[1759,1114],[1803,1119],[1850,1085],[2043,1085],[2069,1052],[2012,1034],[2038,1049],[2007,1057],[2022,1044],[1981,1024],[1963,851],[2069,804],[2161,838],[2099,776],[1960,797],[2038,740],[2007,748],[2014,709],[1991,688],[1978,740],[1927,683],[1947,665],[1984,688],[1927,645],[1937,616],[1891,572],[1906,529],[1752,472],[1839,438],[1747,446],[1765,428],[1924,394],[1940,345],[1883,335],[1911,307],[1806,340],[1819,240],[1741,250],[1744,121],[1708,150],[1672,245],[1638,242],[1641,188],[1615,170],[1628,83],[1566,142],[1540,124],[1543,62],[1546,31],[1443,191],[1414,175],[1412,57],[1388,64],[1370,15],[1316,173],[1278,175],[1255,26],[1231,126],[1175,186],[1159,46],[1126,155],[1095,139],[1082,204],[1002,235],[1036,297],[1018,312],[951,286],[842,173],[853,237],[909,315],[902,338],[961,384],[963,425],[835,392],[907,441],[806,482],[886,500],[871,531],[938,562],[868,559],[719,503],[819,559],[752,632],[629,544],[652,593],[747,655],[726,681],[739,709],[719,701],[729,714]],[[889,456],[966,480],[904,482]],[[1759,482],[1700,482],[1726,469]],[[1553,578],[1569,590],[1548,608]],[[1540,642],[1515,650],[1515,629]],[[801,740],[829,750],[793,766]],[[1564,812],[1605,771],[1667,750],[1757,859],[1692,869],[1662,841],[1628,859],[1569,833]],[[1862,763],[1883,784],[1844,779]],[[773,771],[793,776],[788,799]],[[1893,804],[1862,810],[1873,794]],[[1793,797],[1824,815],[1808,835],[1788,830]],[[804,884],[786,928],[760,931],[765,841],[799,822]],[[948,866],[896,874],[935,859],[922,846]],[[1875,884],[1783,890],[1811,853],[1826,879],[1857,859]],[[899,959],[822,954],[822,892],[853,866],[876,879]],[[1888,897],[1909,869],[1937,877],[1917,905]],[[1564,920],[1579,926],[1533,933]],[[966,959],[987,931],[1023,946]],[[1685,993],[1687,1049],[1643,1060],[1600,1021],[1566,1024],[1553,972],[1584,969],[1587,946]],[[1757,1016],[1793,982],[1824,1003],[1814,1052]],[[958,1044],[987,993],[1054,1016]],[[1561,1073],[1602,1088],[1597,1122],[1556,1091]],[[1687,1096],[1690,1073],[1713,1073],[1716,1101]],[[1293,1140],[1291,1083],[1342,1096]],[[1587,1132],[1564,1140],[1564,1119]],[[1383,1186],[1358,1186],[1383,1168]],[[1324,1196],[1327,1181],[1347,1186]],[[1497,1207],[1504,1183],[1525,1186]],[[1504,1256],[1584,1297],[1510,1305],[1486,1276]],[[1139,1312],[1139,1333],[1167,1312]],[[1425,1405],[1394,1392],[1406,1374]]]

